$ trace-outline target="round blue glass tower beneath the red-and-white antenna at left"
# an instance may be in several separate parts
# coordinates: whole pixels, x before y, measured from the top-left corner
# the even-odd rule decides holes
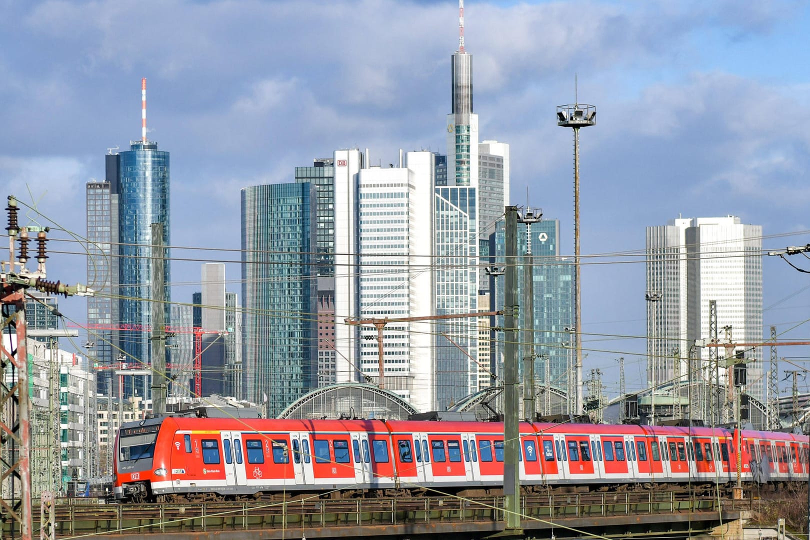
[[[157,149],[157,142],[134,141],[120,157],[120,191],[118,193],[118,303],[121,325],[133,325],[138,331],[122,331],[121,348],[128,359],[151,364],[151,268],[154,244],[151,224],[163,226],[163,243],[169,237],[169,162],[168,152]],[[170,258],[168,248],[166,258]],[[168,264],[164,265],[165,283],[171,283]],[[170,287],[165,287],[165,321],[170,321]],[[130,360],[131,361],[131,360]],[[130,377],[138,379],[138,377]],[[148,396],[148,381],[134,381],[134,390]],[[129,390],[129,389],[127,389]],[[129,393],[127,391],[127,393]]]

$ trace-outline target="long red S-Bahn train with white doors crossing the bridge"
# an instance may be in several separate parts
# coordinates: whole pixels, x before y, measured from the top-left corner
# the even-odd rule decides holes
[[[808,436],[711,427],[520,423],[525,493],[808,481]],[[502,490],[502,423],[166,416],[116,437],[118,500]]]

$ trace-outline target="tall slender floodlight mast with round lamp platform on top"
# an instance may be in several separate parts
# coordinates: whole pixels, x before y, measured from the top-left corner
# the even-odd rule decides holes
[[[573,292],[574,305],[574,372],[576,373],[576,414],[582,414],[582,287],[579,274],[579,129],[596,124],[595,105],[578,103],[576,84],[573,105],[556,108],[557,125],[573,128]]]

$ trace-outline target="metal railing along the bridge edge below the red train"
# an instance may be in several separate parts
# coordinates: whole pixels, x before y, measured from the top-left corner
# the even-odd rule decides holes
[[[693,497],[670,491],[525,495],[524,525],[570,518],[723,512],[748,509],[750,501]],[[249,529],[339,529],[374,535],[381,525],[489,524],[504,519],[503,496],[459,499],[283,500],[267,503],[58,504],[57,538],[86,534],[211,533]],[[7,524],[6,524],[7,525]],[[35,525],[35,530],[38,524]],[[427,527],[425,527],[427,530]],[[6,537],[4,530],[3,537]],[[120,538],[120,537],[119,537]]]

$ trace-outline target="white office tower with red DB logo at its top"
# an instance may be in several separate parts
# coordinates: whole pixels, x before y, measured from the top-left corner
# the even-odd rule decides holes
[[[359,151],[335,152],[335,319],[432,315],[435,157],[413,151],[398,167],[359,165]],[[352,195],[354,212],[341,211],[352,207]],[[383,330],[383,385],[417,410],[433,408],[431,330],[428,321],[390,323]],[[379,384],[374,326],[337,324],[335,342],[339,382],[355,381],[352,370],[359,370]]]

